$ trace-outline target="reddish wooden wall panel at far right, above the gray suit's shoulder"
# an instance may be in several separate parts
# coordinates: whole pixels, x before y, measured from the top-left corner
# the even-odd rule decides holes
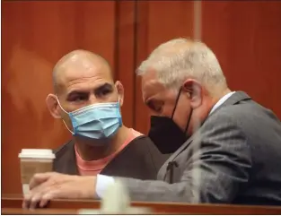
[[[203,1],[203,41],[233,91],[246,91],[281,118],[281,2]]]

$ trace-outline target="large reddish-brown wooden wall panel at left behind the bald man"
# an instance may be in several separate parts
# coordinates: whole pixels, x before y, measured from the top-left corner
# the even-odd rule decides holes
[[[45,105],[57,60],[85,48],[114,65],[115,2],[3,2],[2,12],[2,193],[14,194],[22,192],[19,151],[70,138]]]

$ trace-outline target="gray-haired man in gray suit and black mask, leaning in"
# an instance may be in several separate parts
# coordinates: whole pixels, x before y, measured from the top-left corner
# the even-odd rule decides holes
[[[24,207],[54,198],[102,197],[115,179],[133,200],[281,203],[280,120],[246,93],[229,90],[210,48],[172,39],[137,74],[152,112],[149,136],[160,151],[172,153],[157,180],[38,174]]]

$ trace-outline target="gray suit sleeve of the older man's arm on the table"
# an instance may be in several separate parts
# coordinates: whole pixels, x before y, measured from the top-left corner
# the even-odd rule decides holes
[[[120,178],[132,200],[232,203],[249,180],[251,157],[247,138],[229,114],[212,117],[200,131],[202,134],[189,146],[193,153],[186,160],[180,182]]]

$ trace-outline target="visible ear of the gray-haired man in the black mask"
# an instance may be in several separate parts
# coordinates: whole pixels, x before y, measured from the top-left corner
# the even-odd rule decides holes
[[[196,80],[187,79],[183,84],[182,91],[189,94],[192,108],[198,108],[202,104],[202,86]]]

